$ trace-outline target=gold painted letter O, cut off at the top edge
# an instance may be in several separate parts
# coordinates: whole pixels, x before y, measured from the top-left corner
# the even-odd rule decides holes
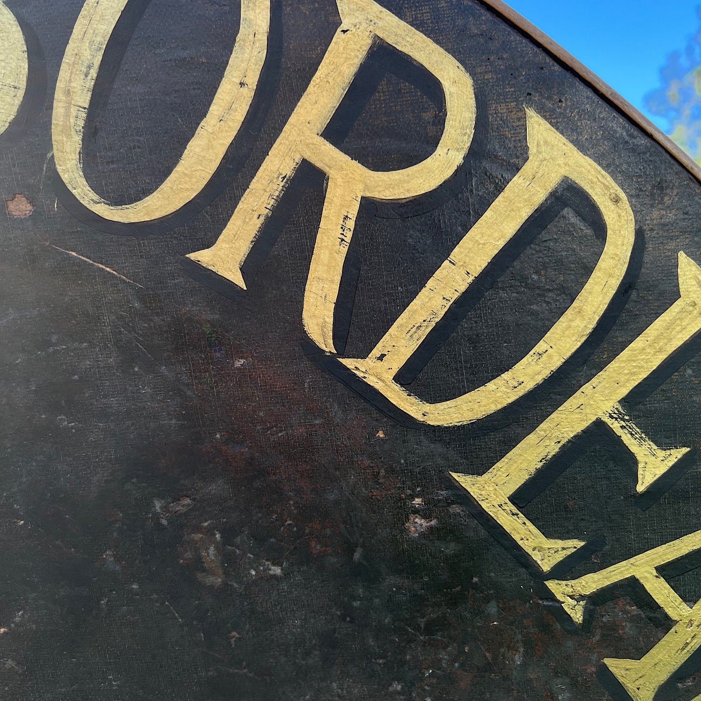
[[[130,205],[102,199],[83,173],[83,136],[100,63],[129,0],[88,0],[69,40],[53,105],[56,170],[73,195],[111,222],[150,222],[177,212],[209,182],[250,108],[268,46],[270,0],[241,0],[236,44],[207,116],[161,186]]]

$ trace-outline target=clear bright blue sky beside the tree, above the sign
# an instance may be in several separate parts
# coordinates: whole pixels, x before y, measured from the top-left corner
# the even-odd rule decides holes
[[[506,0],[643,114],[669,53],[695,34],[701,0]]]

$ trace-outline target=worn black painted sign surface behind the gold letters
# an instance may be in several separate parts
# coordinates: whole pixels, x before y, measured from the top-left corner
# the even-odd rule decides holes
[[[53,95],[81,2],[7,4],[36,32]],[[416,428],[308,355],[301,304],[322,182],[288,193],[289,218],[245,294],[228,299],[184,271],[184,254],[221,233],[313,76],[339,22],[331,0],[282,1],[259,138],[227,189],[170,231],[115,236],[69,214],[47,100],[21,140],[0,145],[4,199],[34,206],[15,217],[8,205],[0,234],[3,698],[593,701],[606,697],[602,658],[639,659],[667,632],[615,592],[589,632],[567,632],[447,472],[490,468],[679,297],[677,252],[701,261],[700,184],[476,0],[383,5],[468,70],[477,132],[450,196],[363,212],[345,355],[369,352],[522,166],[524,105],[629,198],[644,250],[618,321],[498,423]],[[86,144],[88,178],[108,199],[135,200],[168,175],[217,88],[237,6],[149,4]],[[343,149],[390,170],[433,151],[442,116],[440,100],[381,58],[388,72]],[[455,396],[521,358],[587,280],[596,233],[563,207],[412,388]],[[700,447],[700,377],[691,358],[635,407],[658,444]],[[697,464],[641,510],[632,461],[608,437],[574,458],[524,508],[554,537],[606,538],[573,576],[701,527]],[[675,585],[701,599],[697,573]],[[700,679],[669,694],[690,700]]]

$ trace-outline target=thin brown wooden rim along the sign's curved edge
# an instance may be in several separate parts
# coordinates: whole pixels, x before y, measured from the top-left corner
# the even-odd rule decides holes
[[[608,104],[611,104],[623,116],[631,121],[638,128],[646,132],[646,134],[655,139],[660,146],[665,149],[676,161],[686,168],[699,182],[701,182],[701,167],[696,161],[683,151],[672,139],[664,132],[655,126],[644,114],[632,106],[624,97],[616,93],[608,83],[605,83],[597,74],[588,69],[582,62],[576,59],[569,51],[550,39],[545,32],[542,32],[536,25],[533,25],[529,20],[526,20],[517,11],[508,6],[503,0],[479,0],[480,3],[486,5],[489,9],[501,15],[510,25],[515,27],[521,34],[524,34],[527,39],[540,45],[548,54],[550,54],[562,67],[568,69],[575,74],[590,88],[595,90]]]

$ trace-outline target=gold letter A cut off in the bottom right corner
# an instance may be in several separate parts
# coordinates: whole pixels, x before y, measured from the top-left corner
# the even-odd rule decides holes
[[[660,576],[658,568],[701,549],[701,531],[575,580],[546,582],[577,625],[582,625],[587,598],[635,578],[676,625],[641,660],[607,658],[604,664],[634,701],[653,701],[660,686],[701,647],[701,601],[690,608]]]

